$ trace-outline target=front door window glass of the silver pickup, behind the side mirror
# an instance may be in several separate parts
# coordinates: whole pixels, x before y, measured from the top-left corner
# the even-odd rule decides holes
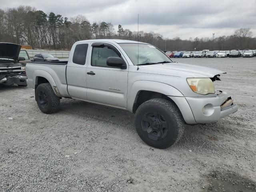
[[[107,66],[108,57],[119,57],[118,54],[111,48],[105,47],[92,47],[92,66],[109,67]],[[120,57],[119,57],[120,58]]]

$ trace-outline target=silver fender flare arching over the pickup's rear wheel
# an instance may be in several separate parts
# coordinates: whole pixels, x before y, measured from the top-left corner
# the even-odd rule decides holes
[[[37,70],[34,71],[34,74],[33,74],[33,82],[35,82],[34,83],[34,88],[35,88],[35,85],[38,82],[38,77],[46,78],[48,80],[48,82],[50,83],[50,85],[52,86],[52,90],[54,91],[56,96],[62,97],[62,95],[60,94],[60,92],[57,88],[57,85],[54,82],[54,79],[52,78],[52,76],[44,70],[37,69]]]

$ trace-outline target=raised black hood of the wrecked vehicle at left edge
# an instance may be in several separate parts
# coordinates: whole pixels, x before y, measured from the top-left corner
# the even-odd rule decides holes
[[[0,58],[18,60],[21,45],[0,42]]]

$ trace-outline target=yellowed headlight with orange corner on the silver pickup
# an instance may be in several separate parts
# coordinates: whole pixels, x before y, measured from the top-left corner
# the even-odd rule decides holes
[[[187,78],[187,82],[192,91],[198,94],[215,93],[214,84],[210,78]]]

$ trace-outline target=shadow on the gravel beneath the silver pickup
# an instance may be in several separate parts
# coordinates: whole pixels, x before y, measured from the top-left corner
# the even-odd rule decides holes
[[[125,110],[63,99],[61,101],[61,111],[86,120],[113,124],[123,130],[137,134],[134,127],[134,114]],[[229,132],[231,132],[231,128],[232,124],[228,124],[225,120],[211,124],[186,125],[183,137],[173,147],[198,151],[214,150],[220,148],[220,146],[223,148],[223,142],[226,141],[225,138],[230,137]],[[169,149],[172,150],[173,147]],[[225,150],[223,150],[224,152]]]

